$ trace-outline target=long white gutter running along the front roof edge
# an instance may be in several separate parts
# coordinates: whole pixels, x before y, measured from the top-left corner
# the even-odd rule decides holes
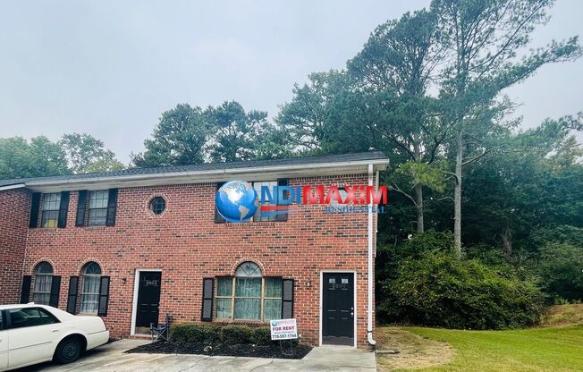
[[[256,173],[256,172],[289,172],[293,170],[308,170],[308,169],[318,169],[318,168],[331,168],[331,167],[345,167],[345,166],[358,166],[358,165],[381,165],[382,169],[386,168],[388,164],[387,159],[376,159],[376,160],[358,160],[349,162],[334,162],[334,163],[320,163],[311,165],[273,165],[273,166],[258,166],[252,168],[233,168],[233,169],[223,169],[223,170],[213,170],[213,171],[186,171],[186,172],[170,172],[170,173],[148,173],[148,174],[130,174],[130,175],[113,175],[104,177],[80,177],[65,180],[38,180],[33,182],[25,182],[27,187],[34,186],[60,186],[60,185],[70,185],[75,183],[97,183],[97,182],[111,182],[111,181],[148,181],[152,179],[172,179],[180,177],[197,177],[197,176],[209,176],[209,175],[219,175],[219,176],[229,176],[232,174],[242,174],[242,173]]]

